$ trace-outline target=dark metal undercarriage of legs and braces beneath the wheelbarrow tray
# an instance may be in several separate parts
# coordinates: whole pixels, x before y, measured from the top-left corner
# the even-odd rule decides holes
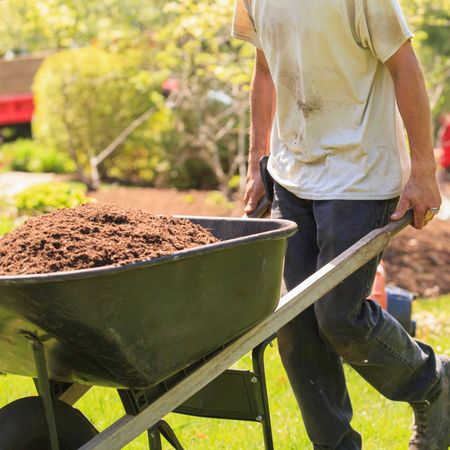
[[[54,399],[59,399],[70,405],[76,403],[91,386],[51,381],[48,378],[47,361],[45,357],[44,339],[36,334],[24,332],[33,350],[37,378],[34,383],[39,396],[44,403],[47,420],[50,450],[59,450],[58,430],[54,410]],[[270,421],[269,399],[264,368],[264,353],[268,345],[272,345],[275,335],[266,339],[252,352],[253,371],[228,369],[203,390],[174,410],[175,413],[205,418],[219,418],[258,422],[262,426],[266,450],[273,450],[273,435]],[[189,372],[181,376],[188,376]],[[173,380],[178,379],[175,375]],[[148,390],[119,389],[125,411],[136,416],[151,406],[158,392],[170,390],[168,382],[161,383]],[[203,406],[198,407],[198,403]],[[233,407],[230,409],[230,403]],[[162,450],[161,437],[175,450],[184,450],[181,442],[170,425],[160,420],[147,430],[149,449]]]

